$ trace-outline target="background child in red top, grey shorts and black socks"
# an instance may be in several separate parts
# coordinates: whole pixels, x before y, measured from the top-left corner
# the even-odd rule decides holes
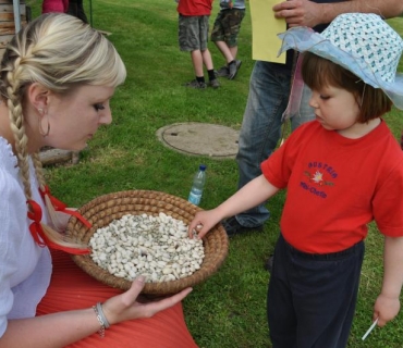
[[[185,84],[186,87],[204,89],[207,87],[203,72],[203,63],[206,65],[209,86],[220,87],[211,54],[207,48],[208,21],[211,14],[212,0],[180,0],[179,13],[179,46],[181,51],[191,52],[192,64],[196,79]]]

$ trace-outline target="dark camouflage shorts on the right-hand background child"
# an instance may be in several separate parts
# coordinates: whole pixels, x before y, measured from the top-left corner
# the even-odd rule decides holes
[[[225,41],[229,47],[237,46],[237,34],[240,33],[241,22],[244,16],[245,10],[221,10],[215,21],[211,41]]]

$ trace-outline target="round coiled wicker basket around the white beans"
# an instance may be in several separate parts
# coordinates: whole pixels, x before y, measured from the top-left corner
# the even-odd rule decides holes
[[[113,220],[124,214],[158,215],[160,212],[182,220],[188,224],[200,208],[186,200],[168,194],[151,190],[129,190],[100,196],[80,209],[81,214],[91,224],[91,228],[84,226],[72,216],[66,233],[75,240],[88,243],[93,234],[100,227],[109,225]],[[204,238],[205,258],[198,271],[191,276],[162,283],[146,283],[143,294],[163,296],[199,284],[213,274],[228,254],[228,236],[221,224],[213,227]],[[72,256],[75,263],[96,279],[123,290],[131,286],[131,282],[117,277],[99,268],[86,256]]]

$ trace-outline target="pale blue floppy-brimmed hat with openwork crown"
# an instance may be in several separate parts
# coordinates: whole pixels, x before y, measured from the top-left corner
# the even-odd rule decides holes
[[[366,84],[381,88],[403,110],[403,74],[396,72],[403,40],[379,15],[345,13],[321,34],[293,27],[278,36],[283,40],[279,54],[294,49],[330,60]]]

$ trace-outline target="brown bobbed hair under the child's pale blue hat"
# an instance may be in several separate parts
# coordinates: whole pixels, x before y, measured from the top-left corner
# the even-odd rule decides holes
[[[302,75],[310,89],[333,86],[352,92],[359,105],[359,123],[379,117],[392,108],[392,101],[382,89],[365,84],[349,70],[312,52],[303,53]]]

